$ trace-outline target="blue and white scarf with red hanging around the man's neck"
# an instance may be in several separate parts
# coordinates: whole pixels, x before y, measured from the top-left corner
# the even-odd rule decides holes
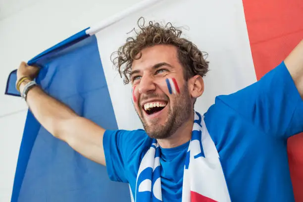
[[[160,155],[153,140],[139,167],[133,202],[162,202]],[[184,165],[182,202],[230,202],[219,154],[198,112]]]

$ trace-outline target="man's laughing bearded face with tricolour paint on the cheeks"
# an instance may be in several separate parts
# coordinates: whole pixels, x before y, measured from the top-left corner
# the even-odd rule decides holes
[[[177,49],[156,45],[141,51],[132,64],[132,98],[151,138],[165,139],[189,120],[193,99]]]

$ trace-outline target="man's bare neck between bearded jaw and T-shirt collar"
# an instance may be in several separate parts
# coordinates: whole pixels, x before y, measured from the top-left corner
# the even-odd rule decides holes
[[[178,130],[169,138],[157,139],[161,148],[174,148],[183,145],[191,140],[194,125],[194,113],[184,122]]]

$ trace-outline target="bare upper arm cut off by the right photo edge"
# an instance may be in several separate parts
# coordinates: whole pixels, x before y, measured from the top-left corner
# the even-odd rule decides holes
[[[284,62],[303,99],[303,40],[288,55]]]

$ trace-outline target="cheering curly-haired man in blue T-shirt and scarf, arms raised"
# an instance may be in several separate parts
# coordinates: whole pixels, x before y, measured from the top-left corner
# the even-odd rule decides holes
[[[17,89],[56,138],[130,184],[137,202],[294,201],[287,138],[303,131],[303,41],[255,84],[219,96],[202,116],[194,104],[208,62],[173,26],[141,26],[113,59],[133,86],[144,130],[109,131],[37,87],[21,63]]]

